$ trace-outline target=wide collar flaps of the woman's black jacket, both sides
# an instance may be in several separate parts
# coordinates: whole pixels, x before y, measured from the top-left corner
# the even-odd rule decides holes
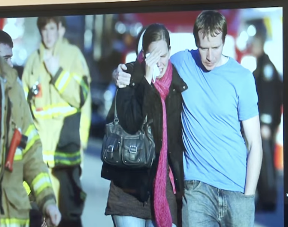
[[[129,70],[129,64],[127,66],[127,71],[131,72],[131,82],[130,84],[133,85],[133,83],[140,83],[141,80],[143,79],[143,77],[145,76],[144,74],[144,68],[145,65],[140,64],[138,61],[135,61],[133,63],[131,63],[130,67],[133,67],[133,71]],[[183,81],[183,79],[179,76],[179,73],[177,72],[176,68],[174,67],[174,65],[172,64],[173,67],[173,73],[172,73],[172,82],[171,82],[171,86],[170,86],[170,90],[171,89],[175,89],[177,92],[183,92],[185,91],[188,87],[187,84]]]

